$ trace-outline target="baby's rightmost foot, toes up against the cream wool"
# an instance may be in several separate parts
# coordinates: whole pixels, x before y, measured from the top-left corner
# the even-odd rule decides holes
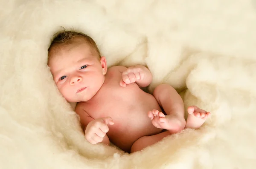
[[[205,120],[211,116],[210,112],[206,112],[197,106],[189,106],[188,113],[185,128],[190,129],[198,129],[204,124]]]

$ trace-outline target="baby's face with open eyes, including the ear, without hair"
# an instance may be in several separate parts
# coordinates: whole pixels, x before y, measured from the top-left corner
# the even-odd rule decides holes
[[[107,72],[105,57],[99,60],[84,43],[61,49],[51,56],[49,67],[59,91],[69,102],[90,100]]]

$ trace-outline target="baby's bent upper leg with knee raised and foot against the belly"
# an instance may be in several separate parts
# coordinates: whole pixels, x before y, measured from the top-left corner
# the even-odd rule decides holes
[[[161,84],[154,89],[154,97],[166,112],[166,116],[158,110],[148,112],[148,117],[154,126],[169,130],[170,133],[180,132],[185,128],[184,103],[176,90],[167,84]]]

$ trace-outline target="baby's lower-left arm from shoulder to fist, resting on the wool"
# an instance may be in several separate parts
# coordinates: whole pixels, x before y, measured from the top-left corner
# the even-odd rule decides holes
[[[105,143],[109,145],[110,143],[109,138],[106,134],[104,134],[108,132],[108,126],[107,124],[105,124],[106,120],[103,120],[103,119],[107,117],[104,117],[102,119],[93,119],[92,117],[90,117],[90,115],[87,112],[84,111],[81,104],[79,103],[77,104],[75,111],[80,117],[81,126],[85,133],[85,138],[87,139],[87,141],[89,141],[92,144]],[[105,130],[105,131],[101,132],[101,130]],[[100,133],[97,133],[97,132],[100,132]],[[97,136],[97,134],[98,135],[101,134],[101,137],[96,137],[92,139],[92,135]]]

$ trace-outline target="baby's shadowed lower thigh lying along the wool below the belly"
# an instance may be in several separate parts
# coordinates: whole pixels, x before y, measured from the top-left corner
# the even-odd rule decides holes
[[[158,141],[162,140],[164,137],[166,137],[168,135],[171,135],[171,133],[169,131],[166,131],[166,132],[161,132],[157,135],[140,137],[131,146],[131,153],[140,151],[140,150],[144,149],[147,146],[151,146],[154,143],[157,143]]]

